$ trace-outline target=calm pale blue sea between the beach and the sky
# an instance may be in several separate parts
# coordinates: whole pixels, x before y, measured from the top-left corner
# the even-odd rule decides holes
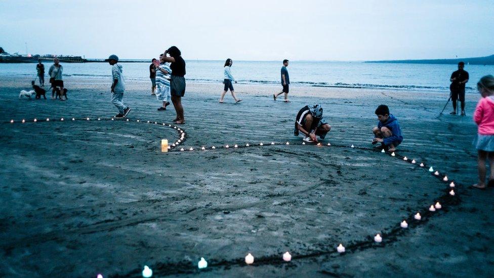
[[[224,61],[186,60],[187,82],[220,83]],[[148,80],[150,62],[126,63],[127,80]],[[62,63],[64,76],[111,78],[108,63]],[[46,74],[51,63],[45,63]],[[241,84],[280,84],[281,61],[233,61],[231,72]],[[376,88],[449,92],[449,77],[455,64],[396,64],[365,62],[290,61],[293,86]],[[470,74],[467,93],[474,93],[476,83],[486,74],[494,74],[493,65],[465,65]],[[36,64],[0,64],[0,76],[36,76]],[[48,76],[45,76],[48,79]]]

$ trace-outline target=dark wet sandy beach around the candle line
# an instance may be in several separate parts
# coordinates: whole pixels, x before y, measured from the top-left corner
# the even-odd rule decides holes
[[[29,78],[0,77],[2,277],[140,277],[144,265],[157,277],[494,271],[492,189],[470,187],[479,95],[467,94],[462,117],[449,115],[451,104],[439,116],[448,92],[293,86],[283,103],[272,98],[280,87],[235,84],[243,101],[227,94],[219,104],[222,84],[188,83],[180,147],[194,151],[161,153],[161,139],[178,133],[147,121],[171,123],[175,111],[156,110],[148,80],[127,83],[129,122],[109,120],[117,110],[108,81],[64,83],[68,101],[27,100],[18,95]],[[332,126],[322,141],[331,147],[293,135],[296,113],[313,103]],[[379,104],[400,122],[397,157],[370,144]],[[91,120],[19,123],[47,117]],[[419,163],[453,180],[456,195]],[[428,212],[437,201],[442,209]],[[201,257],[209,266],[198,270]]]

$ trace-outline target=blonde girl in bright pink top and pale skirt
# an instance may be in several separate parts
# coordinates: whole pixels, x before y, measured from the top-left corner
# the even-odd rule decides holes
[[[494,76],[485,75],[480,78],[477,89],[482,98],[473,114],[473,120],[478,126],[478,134],[473,143],[478,150],[479,182],[473,186],[484,189],[486,158],[489,158],[490,164],[488,185],[494,185]]]

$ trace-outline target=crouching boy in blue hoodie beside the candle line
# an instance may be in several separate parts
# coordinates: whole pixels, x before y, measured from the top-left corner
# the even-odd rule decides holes
[[[379,105],[376,109],[376,115],[379,123],[372,130],[375,136],[372,143],[377,144],[379,142],[389,152],[396,151],[396,147],[403,141],[397,118],[389,113],[389,108],[386,105]]]

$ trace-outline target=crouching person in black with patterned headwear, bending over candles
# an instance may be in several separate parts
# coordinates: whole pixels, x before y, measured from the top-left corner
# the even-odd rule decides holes
[[[317,142],[316,135],[322,140],[330,132],[331,126],[322,117],[322,107],[319,104],[306,105],[300,109],[295,118],[294,135],[301,132],[306,142]]]

